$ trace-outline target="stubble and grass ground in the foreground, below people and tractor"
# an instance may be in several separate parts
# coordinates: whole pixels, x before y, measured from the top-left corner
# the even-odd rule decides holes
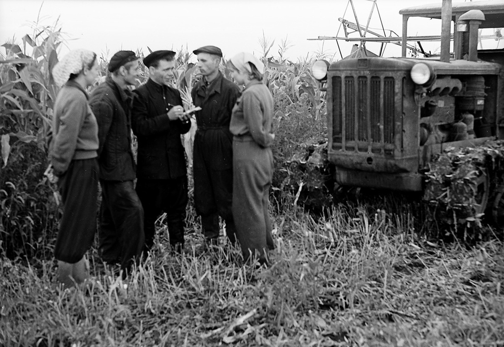
[[[504,256],[497,238],[464,247],[419,237],[415,213],[340,204],[274,213],[269,268],[236,249],[154,254],[124,282],[90,254],[97,282],[62,291],[54,261],[0,263],[5,346],[501,346]]]

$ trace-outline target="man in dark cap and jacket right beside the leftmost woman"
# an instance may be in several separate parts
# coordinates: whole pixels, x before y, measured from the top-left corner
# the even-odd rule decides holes
[[[111,73],[93,90],[89,104],[98,122],[98,163],[102,202],[99,253],[107,263],[120,262],[123,276],[138,260],[144,244],[144,210],[135,191],[128,86],[139,75],[139,57],[131,50],[115,53]]]

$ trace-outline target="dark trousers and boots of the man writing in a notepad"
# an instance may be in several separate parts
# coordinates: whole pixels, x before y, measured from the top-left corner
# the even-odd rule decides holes
[[[145,250],[154,245],[155,223],[162,212],[172,250],[181,251],[184,244],[185,206],[187,205],[187,177],[176,179],[138,179],[137,194],[144,207]]]

